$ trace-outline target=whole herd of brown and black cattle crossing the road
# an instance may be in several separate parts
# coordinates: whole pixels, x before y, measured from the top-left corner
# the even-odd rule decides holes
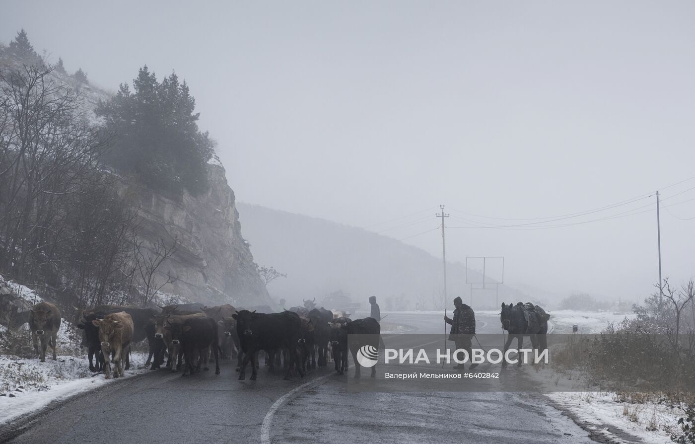
[[[208,370],[212,358],[215,374],[219,375],[220,357],[236,357],[239,379],[245,379],[246,367],[251,363],[250,379],[255,380],[260,352],[264,352],[265,364],[271,371],[284,366],[285,379],[293,373],[304,377],[306,370],[327,365],[329,356],[334,360],[336,372],[343,375],[349,350],[355,363],[354,376],[359,377],[360,365],[355,355],[366,344],[359,339],[348,343],[347,335],[378,338],[380,333],[379,322],[374,318],[351,320],[349,313],[319,308],[313,301],[304,301],[303,307],[281,313],[237,310],[229,304],[211,308],[202,304],[159,308],[101,305],[81,311],[76,327],[83,331],[81,346],[88,350],[90,370],[103,371],[106,379],[110,379],[113,362],[113,376],[122,377],[130,367],[131,346],[147,340],[149,356],[145,366],[155,370],[164,365],[177,372],[183,364],[182,376],[199,372],[202,366]],[[42,362],[49,345],[56,359],[60,322],[60,309],[49,302],[36,304],[28,315],[33,347]],[[372,376],[375,371],[373,367]]]

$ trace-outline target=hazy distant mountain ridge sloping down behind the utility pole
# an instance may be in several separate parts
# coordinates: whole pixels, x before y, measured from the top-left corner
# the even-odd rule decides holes
[[[350,293],[363,309],[376,296],[382,310],[441,309],[442,265],[425,250],[365,229],[263,206],[237,202],[244,237],[261,265],[287,273],[268,284],[275,298],[288,304],[335,290]],[[466,268],[448,263],[448,299],[471,302]],[[469,276],[480,273],[469,270]],[[528,295],[500,285],[499,301],[527,300]],[[451,306],[451,302],[446,302]],[[473,306],[495,306],[495,292],[474,291]]]

